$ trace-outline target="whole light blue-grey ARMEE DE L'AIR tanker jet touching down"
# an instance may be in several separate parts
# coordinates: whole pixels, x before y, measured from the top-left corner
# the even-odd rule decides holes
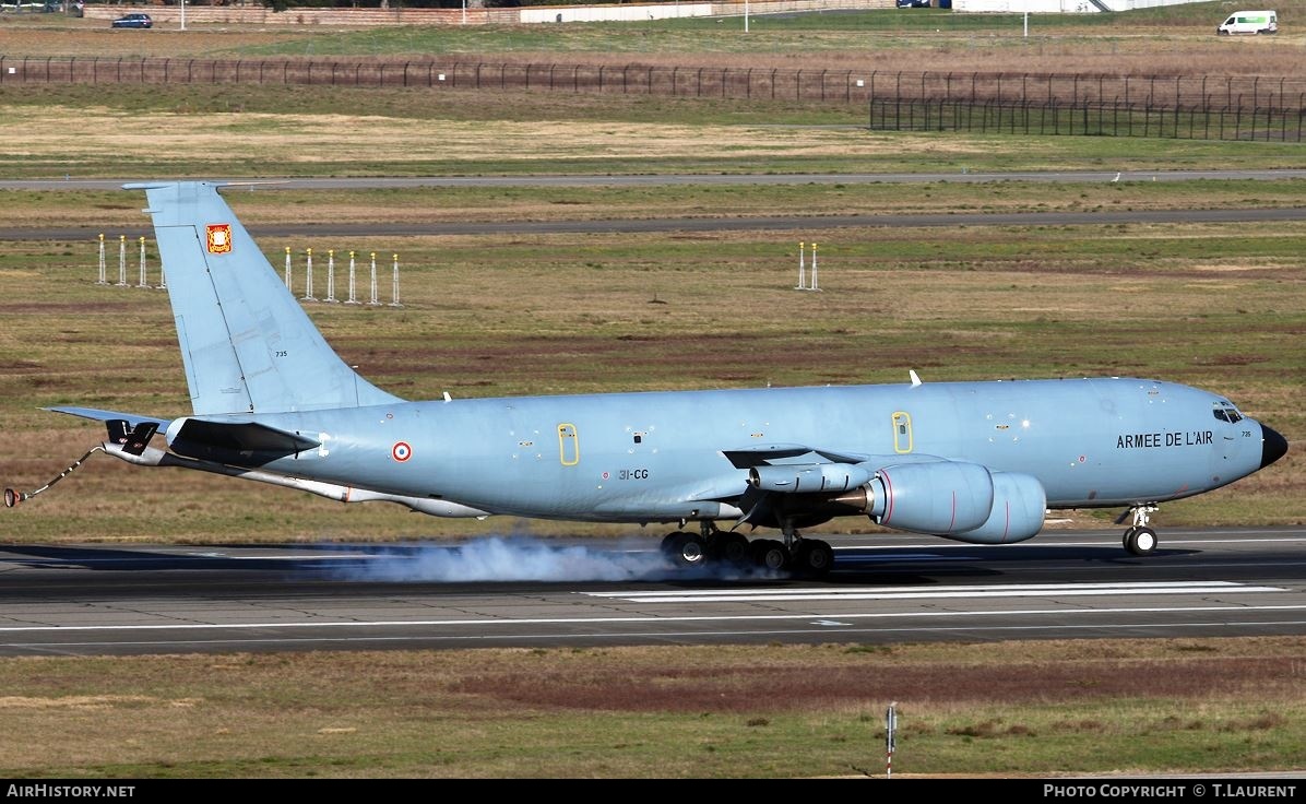
[[[97,448],[137,465],[436,516],[677,523],[675,563],[823,575],[833,552],[799,531],[836,516],[1010,544],[1049,509],[1118,507],[1147,554],[1158,503],[1288,450],[1218,394],[1123,377],[407,401],[336,356],[218,187],[127,186],[149,199],[192,413],[52,408],[106,422]]]

